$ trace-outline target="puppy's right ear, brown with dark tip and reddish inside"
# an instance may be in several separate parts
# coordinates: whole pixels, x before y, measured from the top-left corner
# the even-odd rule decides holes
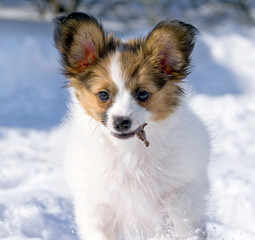
[[[198,30],[177,20],[162,21],[145,38],[145,52],[156,58],[160,71],[170,79],[189,74],[190,55]]]

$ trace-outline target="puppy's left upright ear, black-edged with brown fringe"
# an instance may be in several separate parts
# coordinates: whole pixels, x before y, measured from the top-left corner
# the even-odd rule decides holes
[[[84,72],[102,56],[105,33],[95,18],[75,12],[53,21],[54,42],[61,54],[65,75]]]

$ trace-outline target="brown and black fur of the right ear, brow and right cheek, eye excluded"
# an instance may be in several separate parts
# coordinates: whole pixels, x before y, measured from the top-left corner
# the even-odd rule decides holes
[[[165,119],[179,104],[183,91],[176,83],[189,74],[196,32],[189,24],[167,20],[144,39],[123,45],[120,60],[126,86],[134,96],[137,89],[150,93],[148,100],[139,104],[155,121]]]

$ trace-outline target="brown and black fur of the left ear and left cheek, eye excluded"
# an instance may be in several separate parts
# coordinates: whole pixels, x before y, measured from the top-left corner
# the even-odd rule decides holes
[[[119,41],[112,34],[106,36],[101,24],[85,13],[71,13],[54,22],[54,42],[61,53],[68,86],[76,90],[76,97],[86,112],[104,122],[117,92],[108,68],[109,55]],[[110,94],[109,101],[100,101],[100,91]]]

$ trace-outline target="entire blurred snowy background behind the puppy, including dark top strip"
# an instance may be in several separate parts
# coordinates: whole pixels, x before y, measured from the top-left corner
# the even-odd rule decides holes
[[[214,126],[208,239],[254,240],[254,0],[0,0],[0,239],[78,240],[61,170],[67,92],[51,23],[74,10],[122,38],[167,16],[199,29],[186,82]]]

